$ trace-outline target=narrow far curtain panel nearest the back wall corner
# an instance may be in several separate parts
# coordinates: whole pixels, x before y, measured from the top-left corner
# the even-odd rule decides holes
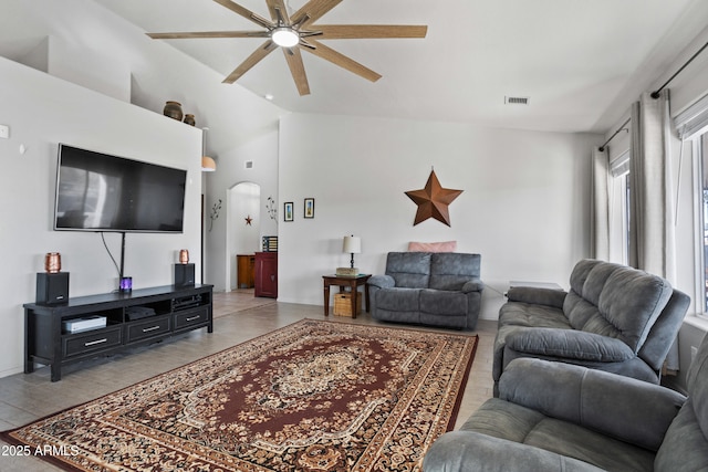
[[[592,157],[592,256],[610,260],[610,157],[607,148],[593,149]]]

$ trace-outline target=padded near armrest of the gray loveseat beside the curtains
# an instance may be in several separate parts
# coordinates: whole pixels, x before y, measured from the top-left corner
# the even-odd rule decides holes
[[[579,329],[520,327],[507,335],[506,347],[518,353],[593,363],[621,363],[636,357],[620,339]]]

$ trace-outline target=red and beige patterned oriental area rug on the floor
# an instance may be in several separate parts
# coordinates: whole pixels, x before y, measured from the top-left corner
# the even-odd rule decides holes
[[[71,471],[415,471],[476,347],[303,319],[2,437]]]

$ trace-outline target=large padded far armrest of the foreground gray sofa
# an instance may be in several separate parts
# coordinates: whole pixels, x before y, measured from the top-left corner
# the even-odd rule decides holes
[[[509,364],[499,397],[654,451],[686,401],[634,378],[530,358]]]

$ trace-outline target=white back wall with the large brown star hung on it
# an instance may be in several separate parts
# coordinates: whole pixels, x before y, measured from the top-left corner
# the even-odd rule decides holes
[[[281,119],[279,301],[322,304],[322,275],[348,265],[342,237],[362,238],[355,258],[383,273],[388,251],[409,241],[458,242],[482,255],[482,317],[496,318],[510,280],[568,285],[589,254],[590,153],[602,136],[483,128],[472,125],[344,116]],[[413,225],[404,193],[425,186],[431,168],[445,188],[464,192],[451,227]],[[315,198],[314,219],[303,199]]]

